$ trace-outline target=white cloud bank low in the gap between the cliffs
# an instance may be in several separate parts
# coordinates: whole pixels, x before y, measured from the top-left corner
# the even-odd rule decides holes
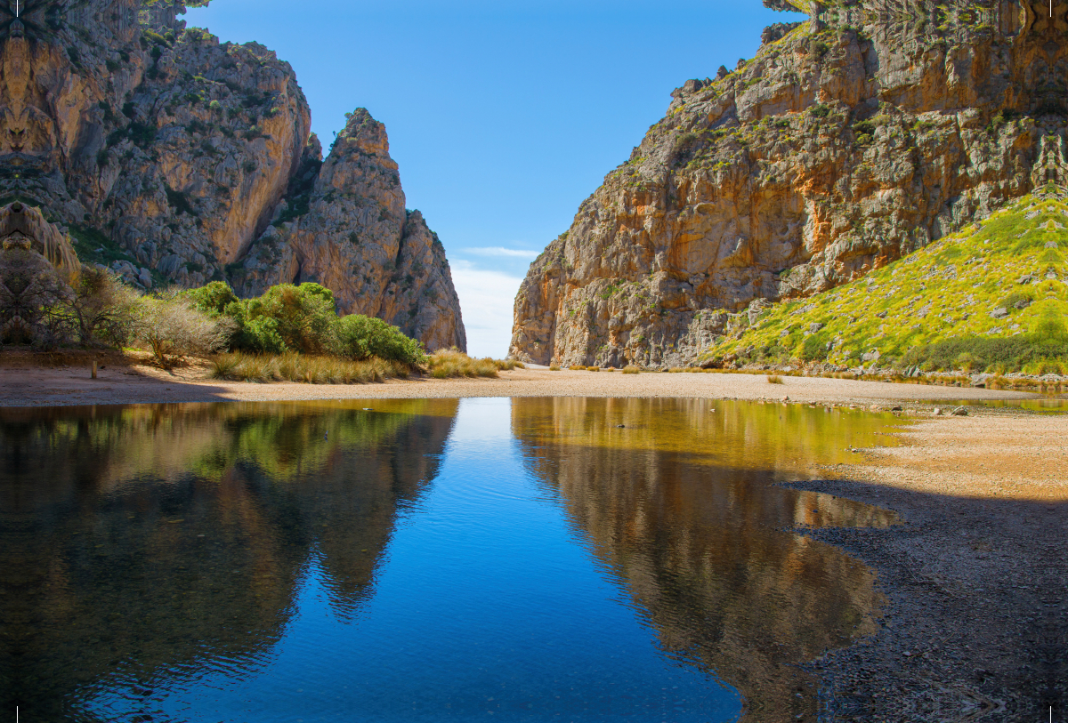
[[[512,341],[512,305],[522,279],[476,269],[470,261],[454,260],[450,267],[460,298],[468,354],[504,358]]]

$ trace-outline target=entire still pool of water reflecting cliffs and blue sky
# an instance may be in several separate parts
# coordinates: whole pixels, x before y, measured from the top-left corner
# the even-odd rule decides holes
[[[791,528],[896,520],[774,484],[895,423],[635,399],[0,409],[0,704],[28,723],[808,718],[796,663],[873,630],[881,598]]]

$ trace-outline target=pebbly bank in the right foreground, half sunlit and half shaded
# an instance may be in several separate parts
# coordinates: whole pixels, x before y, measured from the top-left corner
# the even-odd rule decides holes
[[[798,485],[906,520],[812,532],[875,568],[890,599],[873,639],[812,665],[827,719],[1048,720],[1068,705],[1068,417],[931,419],[902,436]]]

